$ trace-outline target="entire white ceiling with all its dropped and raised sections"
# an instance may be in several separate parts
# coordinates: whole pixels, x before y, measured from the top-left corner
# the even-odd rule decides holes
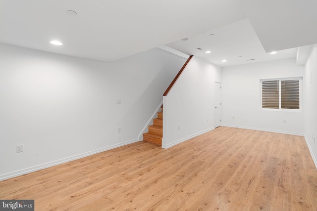
[[[167,45],[229,66],[296,57],[295,48],[266,52],[317,43],[316,8],[316,0],[0,0],[0,42],[108,62],[175,41]]]

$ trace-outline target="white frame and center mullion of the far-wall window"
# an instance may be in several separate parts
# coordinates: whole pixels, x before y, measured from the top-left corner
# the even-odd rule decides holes
[[[281,81],[299,81],[299,109],[281,108],[282,103],[282,92],[281,92]],[[264,81],[278,81],[278,107],[279,108],[262,108],[262,82]],[[303,111],[303,77],[292,77],[292,78],[274,78],[274,79],[261,79],[260,80],[260,110],[262,111],[291,111],[291,112],[302,112]]]

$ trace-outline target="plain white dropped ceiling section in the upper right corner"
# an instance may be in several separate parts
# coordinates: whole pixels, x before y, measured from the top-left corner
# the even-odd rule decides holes
[[[266,52],[317,43],[317,0],[239,0]]]

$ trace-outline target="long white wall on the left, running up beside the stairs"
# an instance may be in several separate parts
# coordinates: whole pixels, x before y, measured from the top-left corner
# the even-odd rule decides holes
[[[5,44],[0,58],[0,180],[138,141],[186,61],[152,49],[102,63]]]

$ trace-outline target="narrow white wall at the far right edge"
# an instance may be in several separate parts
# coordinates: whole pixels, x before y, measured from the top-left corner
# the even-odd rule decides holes
[[[305,65],[305,138],[317,167],[317,46]],[[314,142],[315,137],[315,142]]]

